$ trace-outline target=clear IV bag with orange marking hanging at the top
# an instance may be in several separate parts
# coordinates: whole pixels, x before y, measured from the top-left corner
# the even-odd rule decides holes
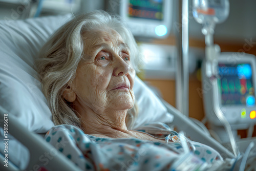
[[[203,25],[222,23],[229,14],[228,0],[193,0],[193,16]]]

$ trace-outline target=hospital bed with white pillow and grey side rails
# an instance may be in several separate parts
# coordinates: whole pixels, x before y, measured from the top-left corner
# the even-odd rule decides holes
[[[43,139],[54,124],[34,69],[40,47],[54,30],[70,18],[71,14],[0,21],[1,170],[37,170],[40,166],[49,170],[79,170]],[[216,149],[224,159],[234,158],[228,149],[173,106],[159,99],[137,77],[134,92],[138,105],[146,107],[140,109],[135,127],[150,121],[161,121],[175,126],[178,131],[184,131],[191,140]],[[6,134],[4,129],[7,130]],[[3,145],[4,142],[8,142],[8,145]],[[6,147],[8,152],[5,152]],[[8,167],[3,164],[6,154]],[[47,154],[51,157],[47,157]]]

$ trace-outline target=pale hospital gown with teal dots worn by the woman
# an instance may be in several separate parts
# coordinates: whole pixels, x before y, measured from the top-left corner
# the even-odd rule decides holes
[[[165,139],[178,135],[162,122],[144,124],[136,131]],[[98,138],[84,134],[76,126],[58,125],[46,134],[45,140],[67,156],[82,170],[170,170],[184,153],[181,143],[153,142],[136,138]],[[194,155],[211,163],[222,160],[215,149],[190,141]],[[191,148],[191,146],[190,146]]]

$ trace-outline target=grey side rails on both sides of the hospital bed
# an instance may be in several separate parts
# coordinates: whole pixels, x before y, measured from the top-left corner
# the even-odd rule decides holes
[[[174,115],[173,124],[179,131],[184,131],[191,140],[206,144],[218,151],[221,156],[225,158],[234,158],[234,155],[222,146],[218,141],[206,135],[200,127],[193,121],[188,119],[185,115],[175,109],[172,105],[162,100],[166,106],[167,111]],[[30,153],[30,160],[25,170],[35,170],[39,166],[45,167],[48,170],[81,170],[66,156],[58,152],[51,144],[47,143],[42,137],[36,133],[30,132],[24,125],[22,125],[15,116],[6,111],[0,106],[0,126],[4,128],[4,114],[8,114],[8,134],[14,136],[19,142],[25,145]],[[2,140],[1,140],[2,141]],[[1,152],[0,152],[1,153]],[[45,153],[54,153],[53,158],[45,165],[40,161],[40,156]],[[4,158],[1,157],[2,163]],[[12,162],[8,162],[8,167],[0,164],[0,170],[19,170]]]

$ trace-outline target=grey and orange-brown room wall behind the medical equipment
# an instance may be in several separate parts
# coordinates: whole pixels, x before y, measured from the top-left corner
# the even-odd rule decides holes
[[[202,25],[198,24],[192,13],[192,1],[189,1],[189,47],[205,48]],[[256,1],[240,0],[230,2],[229,16],[225,22],[216,25],[214,41],[219,44],[221,52],[245,52],[256,55]],[[176,45],[175,30],[177,23],[173,22],[172,34],[165,39],[154,40],[154,44]],[[178,25],[179,26],[179,25]],[[146,79],[152,86],[157,87],[162,97],[172,105],[176,105],[175,80]],[[199,90],[199,91],[198,91]],[[189,116],[201,120],[204,117],[203,98],[199,93],[202,90],[201,81],[196,74],[189,77]],[[254,129],[255,130],[255,129]],[[244,133],[243,133],[244,134]],[[256,131],[254,131],[256,136]]]

